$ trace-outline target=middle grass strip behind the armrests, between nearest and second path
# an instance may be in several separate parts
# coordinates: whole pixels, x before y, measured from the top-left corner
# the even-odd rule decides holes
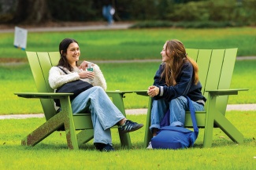
[[[160,63],[160,62],[159,62]],[[107,90],[145,90],[152,85],[158,62],[154,63],[99,63],[106,78]],[[256,103],[256,60],[237,60],[232,76],[232,89],[249,89],[230,96],[229,104]],[[35,82],[28,63],[0,67],[0,114],[43,113],[39,99],[25,99],[14,92],[36,92]],[[126,109],[147,108],[148,98],[135,93],[124,98]]]

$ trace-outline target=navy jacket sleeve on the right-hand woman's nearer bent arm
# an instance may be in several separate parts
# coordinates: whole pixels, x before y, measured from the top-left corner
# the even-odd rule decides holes
[[[180,96],[185,96],[189,92],[193,80],[193,66],[191,64],[184,64],[177,78],[177,84],[172,86],[159,85],[158,99],[166,99],[170,101]]]

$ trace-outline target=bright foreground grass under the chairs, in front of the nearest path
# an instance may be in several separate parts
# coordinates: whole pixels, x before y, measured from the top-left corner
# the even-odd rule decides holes
[[[256,159],[255,111],[228,111],[228,120],[243,133],[244,143],[233,143],[221,131],[213,129],[213,146],[202,147],[204,129],[193,148],[185,150],[147,150],[144,130],[131,132],[132,149],[121,148],[117,129],[112,129],[112,153],[95,150],[93,141],[69,150],[65,132],[54,132],[36,146],[21,146],[20,140],[45,121],[44,118],[0,120],[1,169],[254,169]],[[128,115],[145,124],[146,115]]]

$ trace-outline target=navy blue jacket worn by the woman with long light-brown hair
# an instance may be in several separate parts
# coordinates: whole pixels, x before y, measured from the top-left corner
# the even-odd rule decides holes
[[[188,96],[193,101],[202,99],[206,102],[206,98],[202,96],[202,85],[200,81],[195,85],[193,77],[193,66],[186,62],[181,68],[180,74],[176,79],[176,85],[167,86],[165,84],[165,76],[161,78],[161,73],[164,71],[165,63],[161,63],[158,71],[154,76],[154,85],[158,86],[159,94],[154,96],[154,99],[165,99],[171,101],[180,96]]]

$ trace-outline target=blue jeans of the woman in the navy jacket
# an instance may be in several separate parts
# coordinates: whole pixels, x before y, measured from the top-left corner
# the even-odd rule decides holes
[[[204,107],[192,101],[195,111],[202,111]],[[187,99],[184,96],[172,99],[170,102],[165,101],[165,99],[153,100],[152,110],[151,110],[151,125],[152,128],[160,128],[160,122],[165,116],[167,110],[170,110],[170,126],[182,126],[184,127],[185,113],[189,111],[187,106]]]

